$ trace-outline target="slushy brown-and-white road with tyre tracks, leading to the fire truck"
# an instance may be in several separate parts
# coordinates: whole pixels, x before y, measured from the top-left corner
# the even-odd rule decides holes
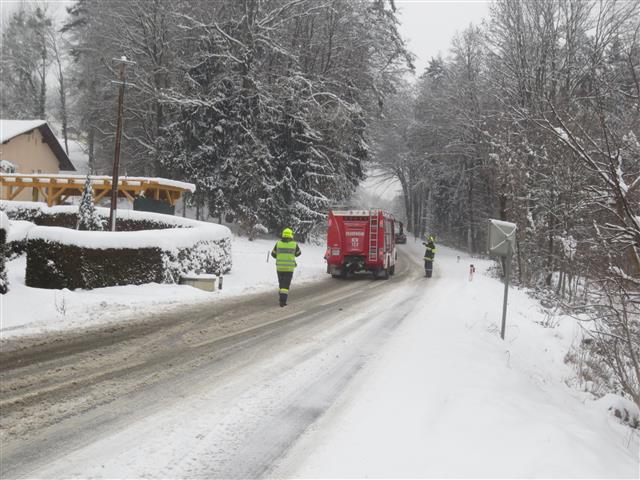
[[[0,354],[2,477],[247,478],[270,469],[424,289],[326,279]],[[435,280],[435,279],[434,279]]]

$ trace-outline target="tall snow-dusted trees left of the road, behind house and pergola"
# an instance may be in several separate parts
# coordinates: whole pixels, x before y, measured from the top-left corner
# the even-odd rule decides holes
[[[304,238],[364,178],[370,126],[412,68],[397,27],[387,0],[78,0],[61,25],[25,7],[3,29],[2,108],[50,114],[108,173],[126,56],[123,173],[195,183],[199,218]]]

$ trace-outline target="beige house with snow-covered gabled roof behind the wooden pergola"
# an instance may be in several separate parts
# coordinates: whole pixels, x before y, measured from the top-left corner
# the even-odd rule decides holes
[[[46,120],[0,120],[0,161],[15,173],[59,173],[75,168]],[[2,188],[2,198],[7,189]],[[14,200],[32,200],[28,191]]]

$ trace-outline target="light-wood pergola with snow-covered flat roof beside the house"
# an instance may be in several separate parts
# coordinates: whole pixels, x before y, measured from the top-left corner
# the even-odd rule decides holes
[[[82,195],[87,177],[85,175],[65,175],[54,173],[0,173],[2,199],[14,200],[24,189],[31,189],[31,200],[44,201],[48,206],[60,205],[70,197]],[[110,195],[112,179],[108,175],[90,175],[94,202]],[[118,197],[133,202],[144,196],[175,205],[184,192],[194,192],[192,183],[166,178],[120,177]]]

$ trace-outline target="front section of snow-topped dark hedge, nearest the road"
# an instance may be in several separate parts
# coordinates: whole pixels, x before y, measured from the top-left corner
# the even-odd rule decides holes
[[[98,288],[177,283],[183,274],[228,272],[231,239],[226,227],[198,223],[193,228],[139,232],[34,227],[28,236],[26,283],[39,288]]]

